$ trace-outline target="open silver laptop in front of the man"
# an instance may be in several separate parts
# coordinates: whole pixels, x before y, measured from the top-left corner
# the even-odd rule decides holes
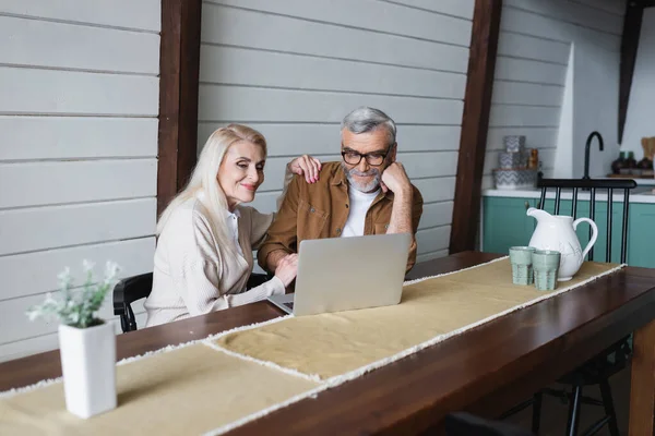
[[[412,235],[301,241],[296,293],[269,301],[295,316],[398,304]]]

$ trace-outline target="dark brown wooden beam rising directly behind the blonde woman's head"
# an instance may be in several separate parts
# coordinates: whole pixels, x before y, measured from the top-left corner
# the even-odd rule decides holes
[[[196,158],[202,0],[162,0],[157,215]]]

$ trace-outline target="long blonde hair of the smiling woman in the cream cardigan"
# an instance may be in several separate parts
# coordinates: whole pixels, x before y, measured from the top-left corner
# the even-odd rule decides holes
[[[239,141],[247,141],[259,145],[263,148],[264,156],[266,155],[266,140],[254,129],[241,124],[229,124],[226,128],[215,130],[202,148],[189,182],[170,201],[159,216],[156,230],[157,235],[162,234],[171,215],[182,203],[194,197],[199,192],[203,192],[204,196],[199,198],[199,201],[202,202],[210,214],[210,225],[216,235],[218,246],[222,249],[229,247],[228,250],[234,252],[231,250],[231,238],[228,238],[226,230],[225,211],[227,210],[227,198],[216,177],[218,175],[218,169],[221,168],[225,153],[233,144]]]

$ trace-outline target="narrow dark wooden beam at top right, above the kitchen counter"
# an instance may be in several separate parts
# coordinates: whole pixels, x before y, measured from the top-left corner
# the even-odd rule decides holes
[[[623,129],[628,117],[630,88],[636,62],[639,37],[644,14],[643,3],[628,1],[623,17],[623,35],[621,37],[621,68],[619,78],[619,144],[623,142]]]

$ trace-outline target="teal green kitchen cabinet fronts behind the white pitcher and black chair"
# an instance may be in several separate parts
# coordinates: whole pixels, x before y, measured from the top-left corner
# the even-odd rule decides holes
[[[483,251],[507,254],[510,246],[526,245],[536,220],[525,215],[529,206],[537,207],[538,198],[484,197]],[[546,201],[545,209],[553,214],[555,201]],[[607,203],[596,203],[595,221],[598,240],[594,258],[605,261],[607,247]],[[559,215],[572,215],[572,202],[562,199]],[[612,204],[611,262],[620,262],[621,219],[623,204]],[[590,216],[590,202],[579,202],[577,217]],[[576,233],[584,249],[588,242],[587,223],[581,223]],[[628,223],[628,265],[655,268],[655,204],[632,203]]]

